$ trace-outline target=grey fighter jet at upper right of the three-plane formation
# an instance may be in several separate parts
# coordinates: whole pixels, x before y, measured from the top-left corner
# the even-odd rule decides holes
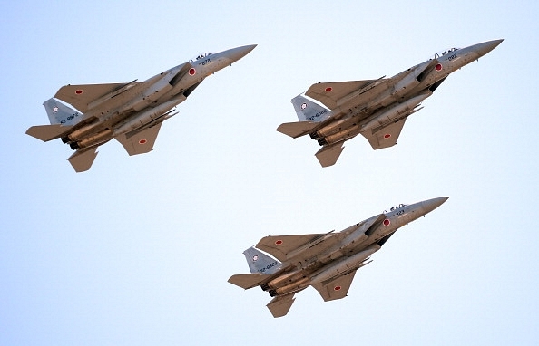
[[[305,95],[291,100],[299,122],[281,124],[277,130],[292,138],[306,134],[316,139],[322,167],[332,166],[346,140],[363,135],[373,149],[397,144],[407,117],[419,110],[451,72],[478,60],[504,40],[478,43],[466,48],[446,49],[426,62],[391,78],[349,82],[319,82]]]

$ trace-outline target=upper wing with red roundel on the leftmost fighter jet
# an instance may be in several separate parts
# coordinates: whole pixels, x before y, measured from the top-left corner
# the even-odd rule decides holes
[[[54,97],[71,104],[78,111],[83,113],[88,111],[88,104],[102,97],[103,95],[121,89],[130,83],[108,83],[108,84],[80,84],[65,85],[56,92]],[[142,82],[136,82],[142,84]]]

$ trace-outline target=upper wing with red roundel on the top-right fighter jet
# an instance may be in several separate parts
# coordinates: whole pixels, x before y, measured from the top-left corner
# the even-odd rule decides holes
[[[349,82],[319,82],[312,84],[305,95],[322,102],[328,109],[333,110],[338,107],[338,101],[347,96],[353,91],[359,91],[360,89],[367,88],[369,85],[374,87],[379,85],[376,82],[386,82],[387,80],[365,80],[365,81],[349,81]],[[365,92],[363,91],[363,92]],[[362,93],[362,92],[359,92]]]

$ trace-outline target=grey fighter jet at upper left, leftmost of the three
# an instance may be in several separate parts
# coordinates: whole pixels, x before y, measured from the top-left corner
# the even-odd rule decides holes
[[[204,78],[255,47],[202,53],[145,82],[65,85],[54,98],[44,101],[51,125],[33,126],[26,133],[43,141],[62,139],[76,150],[68,160],[77,172],[90,169],[97,147],[111,139],[122,143],[129,155],[146,153],[152,150],[162,121],[177,114],[175,107]]]

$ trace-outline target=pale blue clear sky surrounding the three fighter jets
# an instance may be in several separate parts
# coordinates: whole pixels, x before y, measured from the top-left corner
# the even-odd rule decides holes
[[[1,345],[539,343],[536,1],[0,2]],[[362,137],[321,168],[291,98],[392,76],[503,38],[447,78],[397,146]],[[151,153],[25,135],[65,84],[143,81],[258,44],[208,77]],[[309,288],[274,319],[242,252],[266,235],[341,230],[398,203],[448,201],[403,227],[348,297]]]

